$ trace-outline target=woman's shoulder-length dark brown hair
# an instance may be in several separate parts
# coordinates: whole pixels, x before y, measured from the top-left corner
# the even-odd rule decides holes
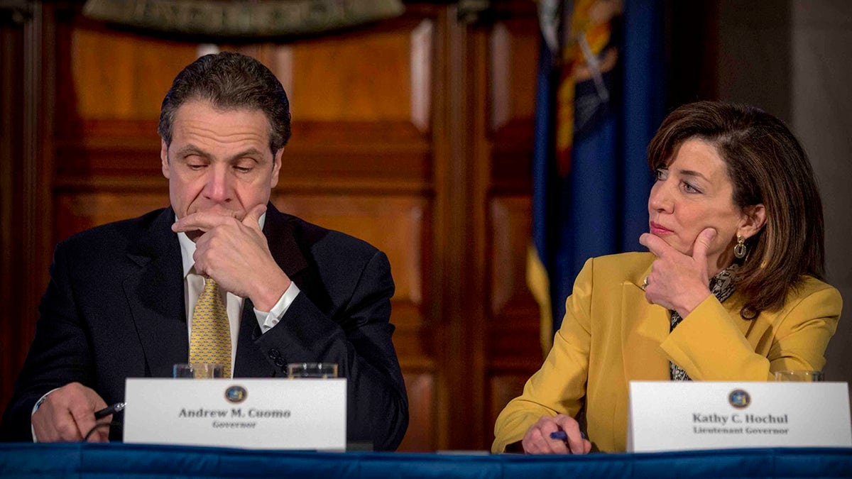
[[[746,240],[748,256],[736,274],[745,298],[740,315],[777,310],[803,274],[824,279],[822,201],[802,145],[778,118],[755,107],[698,101],[678,107],[648,145],[651,170],[665,168],[683,141],[717,148],[734,184],[734,205],[763,204],[766,225]]]

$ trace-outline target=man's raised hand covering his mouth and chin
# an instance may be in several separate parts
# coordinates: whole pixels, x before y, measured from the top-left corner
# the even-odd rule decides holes
[[[266,205],[257,205],[239,221],[218,212],[199,211],[182,217],[171,229],[200,232],[195,240],[195,270],[206,274],[227,291],[248,297],[256,309],[268,311],[290,286],[269,252],[258,220]]]

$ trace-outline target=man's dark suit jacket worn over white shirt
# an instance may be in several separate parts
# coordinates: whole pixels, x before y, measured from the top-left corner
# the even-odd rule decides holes
[[[125,378],[170,378],[189,344],[181,247],[170,208],[77,234],[57,245],[36,335],[3,439],[32,441],[33,405],[78,381],[107,404]],[[408,426],[408,400],[389,323],[394,280],[384,253],[268,205],[263,228],[279,267],[302,291],[261,334],[246,298],[234,377],[286,377],[290,362],[335,362],[348,378],[348,441],[393,450]]]

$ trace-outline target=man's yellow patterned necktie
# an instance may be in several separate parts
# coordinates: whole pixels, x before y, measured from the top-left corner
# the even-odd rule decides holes
[[[204,280],[204,291],[195,303],[189,362],[221,364],[224,377],[231,377],[231,325],[219,285],[210,278]]]

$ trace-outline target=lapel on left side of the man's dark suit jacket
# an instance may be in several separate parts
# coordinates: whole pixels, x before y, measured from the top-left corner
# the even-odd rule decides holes
[[[124,279],[124,293],[145,354],[145,374],[170,378],[187,362],[189,339],[183,297],[181,246],[171,231],[175,213],[165,209],[128,256],[139,268]]]

